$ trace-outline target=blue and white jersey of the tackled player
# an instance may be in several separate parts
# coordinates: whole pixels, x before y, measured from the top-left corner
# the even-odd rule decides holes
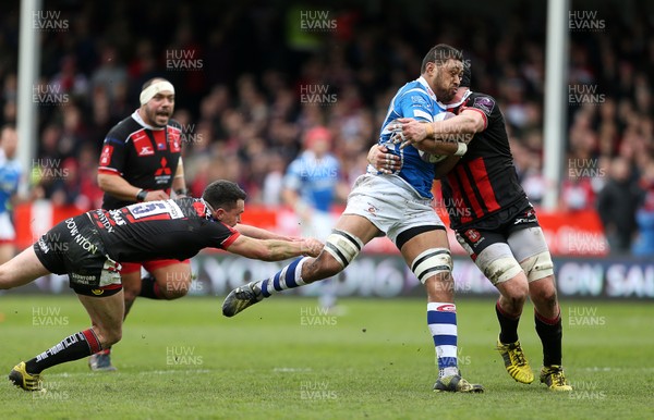
[[[420,77],[402,86],[390,101],[386,119],[382,125],[379,145],[386,146],[392,153],[400,157],[402,169],[396,175],[411,185],[422,197],[433,198],[432,184],[434,183],[434,163],[421,159],[419,151],[413,146],[400,149],[399,144],[390,140],[391,132],[388,124],[399,118],[412,118],[419,121],[433,122],[436,114],[445,109],[438,104],[436,95],[424,79]],[[380,174],[372,165],[368,173]],[[392,176],[392,175],[391,175]]]

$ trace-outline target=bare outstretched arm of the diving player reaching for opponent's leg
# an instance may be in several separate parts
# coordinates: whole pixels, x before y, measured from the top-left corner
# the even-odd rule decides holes
[[[324,244],[314,238],[302,240],[255,239],[239,236],[227,251],[262,261],[281,261],[299,256],[317,257]]]

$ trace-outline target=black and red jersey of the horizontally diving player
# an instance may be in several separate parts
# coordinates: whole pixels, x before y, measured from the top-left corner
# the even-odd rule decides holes
[[[138,202],[86,214],[109,257],[120,262],[185,260],[203,248],[226,249],[240,236],[213,219],[199,198]]]

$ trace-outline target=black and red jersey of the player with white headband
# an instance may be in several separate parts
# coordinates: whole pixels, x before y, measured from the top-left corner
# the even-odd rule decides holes
[[[164,189],[170,195],[180,155],[181,128],[175,121],[153,129],[134,111],[107,134],[98,172],[120,175],[135,187]],[[105,193],[102,209],[119,209],[135,201],[135,197],[124,201]]]

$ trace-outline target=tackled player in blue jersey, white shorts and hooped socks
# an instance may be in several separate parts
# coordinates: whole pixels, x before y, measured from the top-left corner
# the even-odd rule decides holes
[[[226,317],[284,289],[336,275],[348,267],[365,244],[386,235],[427,293],[427,324],[438,359],[434,391],[480,393],[483,387],[461,378],[457,360],[457,307],[453,304],[452,259],[443,221],[432,206],[434,164],[417,149],[400,149],[391,134],[395,120],[413,118],[432,122],[444,111],[439,102],[456,95],[463,71],[459,50],[437,45],[424,57],[421,76],[401,87],[392,98],[378,143],[402,161],[393,174],[368,166],[348,197],[344,212],[317,258],[299,258],[274,276],[232,291],[222,306]],[[461,155],[464,147],[444,145],[444,155]]]

